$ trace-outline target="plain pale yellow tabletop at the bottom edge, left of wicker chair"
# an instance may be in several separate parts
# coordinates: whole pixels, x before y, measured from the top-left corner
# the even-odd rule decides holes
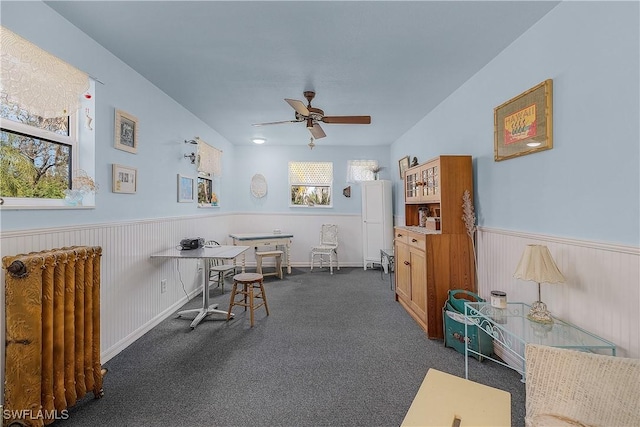
[[[511,426],[511,394],[429,369],[402,426]]]

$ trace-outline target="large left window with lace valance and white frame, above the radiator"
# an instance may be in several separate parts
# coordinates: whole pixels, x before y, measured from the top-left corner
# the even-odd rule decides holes
[[[1,26],[0,37],[2,208],[93,206],[95,82]]]

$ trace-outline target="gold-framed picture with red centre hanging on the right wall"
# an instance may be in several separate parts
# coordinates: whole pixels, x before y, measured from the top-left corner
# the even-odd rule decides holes
[[[493,132],[496,162],[553,148],[553,80],[496,107]]]

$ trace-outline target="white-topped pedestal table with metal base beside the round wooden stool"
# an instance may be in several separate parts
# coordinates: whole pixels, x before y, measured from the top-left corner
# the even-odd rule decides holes
[[[224,314],[226,311],[216,310],[218,304],[209,305],[209,264],[213,259],[235,259],[239,255],[249,249],[249,246],[213,246],[204,247],[199,249],[192,249],[187,251],[180,251],[176,248],[167,249],[166,251],[158,252],[151,255],[151,258],[165,258],[165,259],[202,259],[205,261],[202,274],[202,308],[195,308],[191,310],[183,310],[178,312],[178,316],[188,313],[196,313],[195,319],[191,322],[191,329],[198,326],[198,323],[206,316],[210,314]],[[244,265],[244,255],[243,255]],[[232,313],[233,315],[233,313]]]

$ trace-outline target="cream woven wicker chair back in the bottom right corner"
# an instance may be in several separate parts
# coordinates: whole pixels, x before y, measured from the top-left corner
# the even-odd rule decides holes
[[[640,359],[528,344],[527,427],[640,426]]]

